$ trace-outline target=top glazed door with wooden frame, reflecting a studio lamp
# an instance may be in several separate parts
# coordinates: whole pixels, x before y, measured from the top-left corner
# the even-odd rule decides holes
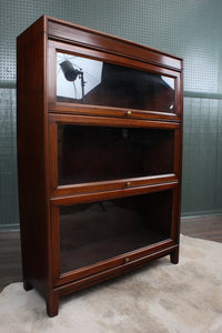
[[[135,58],[49,42],[54,112],[180,120],[180,72]]]

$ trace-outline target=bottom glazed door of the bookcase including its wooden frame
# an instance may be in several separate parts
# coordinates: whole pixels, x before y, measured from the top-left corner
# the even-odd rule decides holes
[[[170,254],[176,249],[176,195],[172,183],[77,196],[72,203],[52,200],[54,285],[65,289],[83,278],[124,272],[161,251]]]

